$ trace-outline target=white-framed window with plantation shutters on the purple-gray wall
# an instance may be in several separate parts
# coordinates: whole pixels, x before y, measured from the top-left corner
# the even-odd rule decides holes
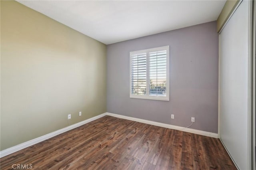
[[[130,52],[130,97],[169,101],[169,46]]]

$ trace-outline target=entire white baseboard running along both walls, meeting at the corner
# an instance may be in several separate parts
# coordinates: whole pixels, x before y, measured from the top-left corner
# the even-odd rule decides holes
[[[27,148],[29,146],[32,146],[33,144],[37,144],[39,142],[42,142],[46,139],[49,139],[49,138],[52,138],[58,134],[61,134],[61,133],[64,133],[68,130],[72,130],[74,128],[77,128],[77,127],[80,127],[86,123],[89,123],[91,121],[94,121],[96,119],[99,119],[101,117],[104,117],[104,116],[112,116],[112,117],[118,117],[118,118],[121,118],[121,119],[127,119],[127,120],[130,120],[130,121],[136,121],[136,122],[140,122],[140,123],[146,123],[146,124],[149,124],[149,125],[155,125],[155,126],[158,126],[158,127],[164,127],[164,128],[170,128],[170,129],[176,129],[176,130],[182,130],[184,132],[190,132],[190,133],[194,133],[194,134],[201,134],[201,135],[204,135],[204,136],[210,136],[210,137],[213,137],[213,138],[218,138],[218,134],[216,133],[212,133],[212,132],[205,132],[205,131],[202,131],[202,130],[196,130],[196,129],[192,129],[192,128],[184,128],[184,129],[181,129],[183,127],[178,127],[178,126],[174,126],[174,125],[169,125],[169,124],[165,124],[165,123],[159,123],[159,122],[154,122],[154,121],[147,121],[147,120],[144,120],[144,119],[138,119],[138,118],[134,118],[134,117],[128,117],[128,116],[123,116],[123,115],[118,115],[118,114],[114,114],[114,113],[102,113],[101,115],[98,115],[98,116],[95,116],[95,117],[92,117],[90,119],[86,119],[82,122],[79,122],[79,123],[76,123],[74,125],[70,125],[68,127],[65,127],[65,128],[62,128],[60,130],[56,130],[54,132],[51,132],[49,134],[46,134],[44,136],[40,136],[38,138],[35,138],[35,139],[32,139],[32,140],[29,140],[27,142],[24,142],[24,143],[21,143],[21,144],[18,144],[16,146],[12,146],[11,148],[7,148],[5,150],[2,150],[0,151],[0,158],[4,157],[4,156],[7,156],[9,154],[12,154],[14,152],[17,152],[19,150],[22,150],[24,148]]]

